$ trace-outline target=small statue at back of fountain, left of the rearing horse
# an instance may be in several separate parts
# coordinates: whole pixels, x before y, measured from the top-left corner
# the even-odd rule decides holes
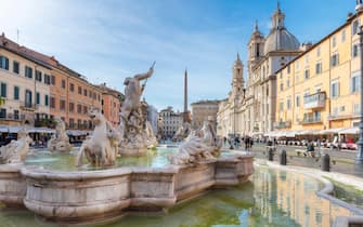
[[[48,149],[50,151],[61,152],[70,151],[73,146],[69,144],[64,121],[60,117],[54,117],[54,121],[56,123],[55,134],[49,139],[47,145]]]

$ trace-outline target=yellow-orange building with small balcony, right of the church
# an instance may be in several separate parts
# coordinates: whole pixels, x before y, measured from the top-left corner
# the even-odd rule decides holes
[[[350,14],[343,25],[276,72],[274,130],[358,126],[362,23],[363,13]]]

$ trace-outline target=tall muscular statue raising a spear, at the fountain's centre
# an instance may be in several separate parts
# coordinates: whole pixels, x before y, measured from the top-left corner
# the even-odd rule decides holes
[[[125,84],[125,102],[121,106],[119,132],[119,152],[121,156],[141,156],[146,152],[147,136],[145,119],[141,111],[140,98],[148,78],[154,72],[155,62],[148,71],[127,77]],[[144,84],[140,81],[144,80]]]

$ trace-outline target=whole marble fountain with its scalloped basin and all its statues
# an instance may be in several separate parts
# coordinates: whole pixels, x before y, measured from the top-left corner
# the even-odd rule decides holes
[[[145,153],[147,146],[155,146],[151,125],[140,112],[144,85],[141,88],[139,81],[152,74],[153,66],[146,74],[126,79],[119,129],[114,129],[100,110],[90,109],[89,116],[95,128],[76,155],[78,170],[24,166],[24,153],[29,149],[26,134],[2,148],[3,163],[10,164],[0,165],[0,201],[7,205],[25,205],[47,221],[90,223],[130,210],[163,211],[210,188],[246,182],[254,172],[254,157],[219,156],[220,146],[209,122],[205,122],[198,136],[191,135],[181,145],[170,157],[169,164],[160,168],[116,166],[117,153],[120,159],[140,156]],[[56,135],[64,138],[63,128],[60,121]],[[63,156],[73,156],[73,152]],[[90,164],[83,165],[85,160]]]

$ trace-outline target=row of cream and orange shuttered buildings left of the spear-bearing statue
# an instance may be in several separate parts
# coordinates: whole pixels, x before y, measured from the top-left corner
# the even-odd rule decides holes
[[[0,93],[5,98],[0,124],[52,126],[52,119],[61,117],[67,129],[90,130],[88,110],[102,109],[101,88],[55,57],[21,46],[4,34],[0,36]]]

